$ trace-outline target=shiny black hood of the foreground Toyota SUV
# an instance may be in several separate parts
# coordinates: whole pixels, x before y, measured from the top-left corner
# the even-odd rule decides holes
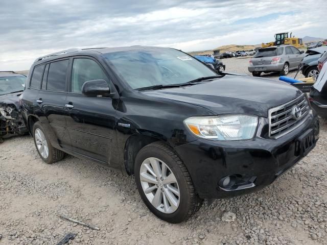
[[[284,104],[302,92],[285,82],[225,75],[192,86],[142,91],[148,96],[194,104],[213,114],[245,113],[268,116],[268,109]]]

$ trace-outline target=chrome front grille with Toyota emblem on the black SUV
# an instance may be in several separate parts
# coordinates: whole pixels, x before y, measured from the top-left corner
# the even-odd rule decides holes
[[[302,94],[284,105],[269,109],[269,137],[277,139],[299,127],[308,116],[310,106]]]

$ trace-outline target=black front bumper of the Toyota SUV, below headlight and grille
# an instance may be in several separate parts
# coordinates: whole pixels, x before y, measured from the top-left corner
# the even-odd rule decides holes
[[[303,133],[315,133],[312,148],[315,146],[319,133],[317,127],[319,129],[319,121],[313,111],[300,127],[278,139],[258,136],[238,141],[198,139],[177,146],[175,150],[188,168],[200,198],[224,198],[260,190],[271,184],[308,153],[297,152]],[[241,188],[222,188],[219,183],[226,176],[237,176]]]

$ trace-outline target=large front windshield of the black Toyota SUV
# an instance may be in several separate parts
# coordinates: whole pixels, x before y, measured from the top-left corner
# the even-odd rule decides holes
[[[171,48],[145,48],[104,54],[120,78],[132,89],[182,84],[217,76],[196,58]]]

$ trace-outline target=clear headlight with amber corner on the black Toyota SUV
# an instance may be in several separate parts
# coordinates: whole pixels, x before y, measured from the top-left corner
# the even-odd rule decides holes
[[[258,117],[249,115],[194,116],[185,119],[184,124],[193,134],[205,139],[251,139],[258,126]]]

